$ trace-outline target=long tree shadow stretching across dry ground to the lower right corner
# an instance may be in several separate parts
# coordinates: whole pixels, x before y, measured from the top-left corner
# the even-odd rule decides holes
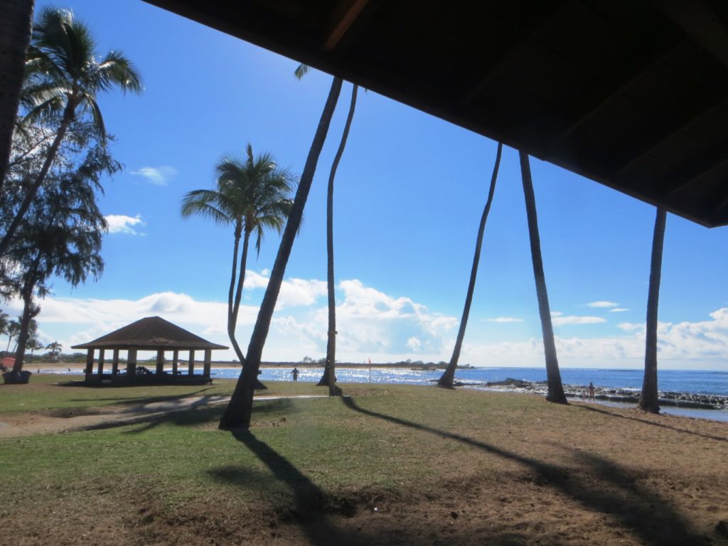
[[[455,440],[478,448],[488,454],[501,456],[529,468],[543,484],[571,497],[589,510],[609,514],[618,523],[641,539],[646,545],[701,545],[710,544],[708,537],[692,529],[689,522],[670,505],[668,499],[639,486],[636,479],[620,465],[593,454],[580,454],[579,462],[585,464],[606,487],[589,486],[575,479],[573,469],[550,464],[532,457],[515,454],[491,444],[466,436],[438,430],[425,424],[411,422],[376,411],[361,408],[352,397],[343,397],[347,408],[360,414],[383,419],[402,427],[421,430],[440,438]],[[610,490],[611,489],[611,490]]]

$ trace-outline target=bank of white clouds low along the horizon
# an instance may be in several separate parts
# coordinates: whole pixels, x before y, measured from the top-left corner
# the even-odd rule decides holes
[[[268,272],[246,272],[249,293],[262,294]],[[250,282],[250,284],[248,284]],[[328,328],[325,282],[287,279],[274,314],[264,359],[301,360],[325,354]],[[448,360],[454,344],[458,318],[430,311],[406,297],[393,297],[365,286],[359,280],[343,280],[338,287],[337,360],[397,362]],[[343,296],[343,297],[341,297]],[[19,312],[20,302],[9,302],[9,311]],[[41,301],[41,341],[61,341],[65,350],[114,331],[142,317],[159,315],[198,335],[224,345],[225,301],[197,301],[184,293],[154,293],[138,299],[55,298]],[[245,351],[258,314],[258,305],[242,304],[237,338]],[[554,313],[554,321],[593,320]],[[601,319],[603,321],[603,319]],[[510,322],[505,321],[505,322]],[[576,322],[579,323],[579,322]],[[563,366],[639,367],[644,360],[644,324],[617,325],[619,335],[598,338],[556,337],[558,359]],[[728,370],[728,308],[710,313],[710,320],[695,323],[660,323],[661,368],[713,368]],[[221,351],[219,359],[232,359],[234,352]],[[543,365],[540,339],[478,344],[468,339],[460,358],[472,365]]]

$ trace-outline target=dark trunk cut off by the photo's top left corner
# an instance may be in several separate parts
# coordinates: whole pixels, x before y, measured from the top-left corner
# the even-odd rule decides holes
[[[3,3],[0,17],[0,195],[12,149],[20,89],[25,76],[25,52],[31,42],[33,0]]]

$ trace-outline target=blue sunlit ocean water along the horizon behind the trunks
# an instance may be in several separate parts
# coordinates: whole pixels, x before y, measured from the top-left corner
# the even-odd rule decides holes
[[[290,381],[292,368],[263,368],[261,381]],[[321,368],[300,368],[298,381],[318,381]],[[217,377],[237,378],[240,368],[215,368]],[[614,389],[641,389],[642,370],[610,370],[595,368],[561,368],[561,380],[565,384],[588,385]],[[401,383],[430,384],[439,379],[442,371],[414,371],[390,368],[336,368],[336,378],[341,383]],[[503,381],[507,378],[525,381],[546,381],[545,368],[473,368],[458,370],[455,379],[467,383],[485,384],[486,381]],[[690,392],[698,395],[728,396],[728,371],[660,370],[657,372],[661,391]]]

